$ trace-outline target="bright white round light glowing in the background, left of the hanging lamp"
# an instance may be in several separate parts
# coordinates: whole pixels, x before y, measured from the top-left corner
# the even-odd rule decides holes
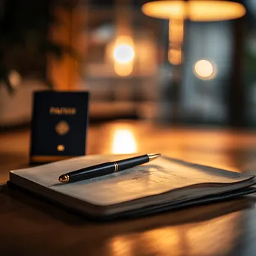
[[[129,63],[133,60],[134,55],[134,50],[129,44],[120,44],[118,46],[115,46],[114,58],[115,61],[117,61],[118,63]]]

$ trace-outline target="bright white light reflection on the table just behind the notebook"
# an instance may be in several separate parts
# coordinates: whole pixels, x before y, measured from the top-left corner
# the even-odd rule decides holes
[[[135,153],[137,144],[132,131],[118,129],[114,133],[112,153]]]

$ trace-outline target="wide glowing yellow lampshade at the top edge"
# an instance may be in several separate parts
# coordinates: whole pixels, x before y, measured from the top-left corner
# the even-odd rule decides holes
[[[142,12],[160,19],[218,21],[240,18],[246,8],[233,1],[151,1],[142,6]]]

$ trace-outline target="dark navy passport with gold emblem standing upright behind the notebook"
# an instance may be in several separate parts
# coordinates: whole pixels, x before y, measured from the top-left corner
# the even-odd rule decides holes
[[[31,164],[85,155],[88,103],[88,91],[34,92]]]

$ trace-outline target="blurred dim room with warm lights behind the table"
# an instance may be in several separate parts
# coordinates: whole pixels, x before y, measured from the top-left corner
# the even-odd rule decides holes
[[[0,128],[38,90],[88,90],[90,121],[256,127],[256,1],[0,0]]]

